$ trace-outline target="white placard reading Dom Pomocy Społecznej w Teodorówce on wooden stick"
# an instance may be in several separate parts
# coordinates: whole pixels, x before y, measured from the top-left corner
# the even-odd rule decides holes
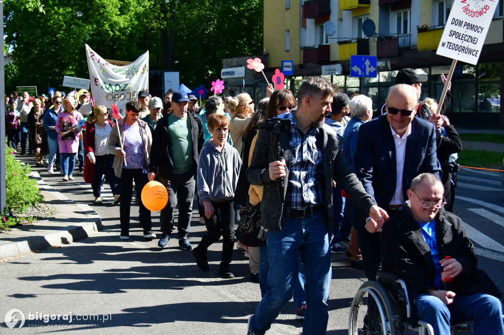
[[[436,54],[476,65],[498,0],[454,0]]]

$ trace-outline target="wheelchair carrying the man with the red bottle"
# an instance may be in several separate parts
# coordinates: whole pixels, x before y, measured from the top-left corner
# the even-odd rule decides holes
[[[412,313],[406,284],[397,276],[379,271],[376,281],[361,285],[353,298],[348,334],[420,335],[434,334],[432,326]],[[472,322],[451,320],[453,334],[472,334]]]

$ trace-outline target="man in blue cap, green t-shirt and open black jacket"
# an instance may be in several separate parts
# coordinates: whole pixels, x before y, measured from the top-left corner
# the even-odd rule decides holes
[[[162,248],[168,245],[178,201],[178,245],[184,250],[193,249],[187,233],[191,230],[196,167],[205,136],[201,119],[187,112],[188,102],[187,93],[173,93],[173,113],[157,122],[151,146],[148,178],[152,181],[159,174],[168,191],[168,203],[161,210],[163,234],[158,245]]]

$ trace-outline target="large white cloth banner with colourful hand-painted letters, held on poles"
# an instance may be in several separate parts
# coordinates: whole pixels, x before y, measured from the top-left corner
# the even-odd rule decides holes
[[[95,105],[123,109],[126,103],[137,100],[138,92],[149,90],[149,51],[125,66],[107,62],[86,44],[91,93]]]

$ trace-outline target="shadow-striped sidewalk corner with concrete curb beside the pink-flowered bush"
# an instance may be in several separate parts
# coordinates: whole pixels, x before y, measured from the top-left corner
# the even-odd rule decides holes
[[[45,203],[55,210],[53,217],[0,234],[0,261],[39,250],[69,244],[96,235],[103,225],[98,214],[86,204],[76,204],[31,173],[41,191],[49,195]],[[46,197],[47,200],[47,197]]]

